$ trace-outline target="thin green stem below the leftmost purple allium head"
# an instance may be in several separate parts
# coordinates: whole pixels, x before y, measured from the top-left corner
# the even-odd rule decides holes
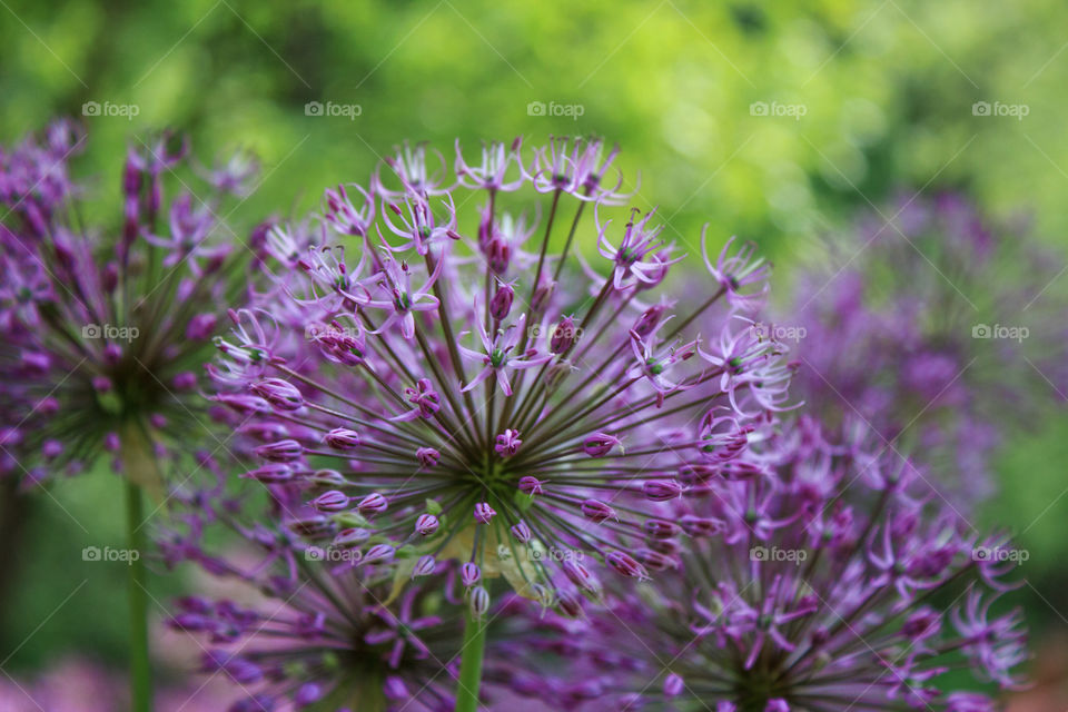
[[[134,712],[151,712],[152,680],[148,659],[148,572],[145,568],[145,528],[141,488],[126,481],[126,533],[131,552],[129,564],[130,698]]]

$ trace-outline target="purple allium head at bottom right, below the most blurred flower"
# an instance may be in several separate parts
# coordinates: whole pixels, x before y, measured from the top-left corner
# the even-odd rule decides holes
[[[828,442],[808,418],[769,418],[749,439],[650,526],[670,572],[655,589],[614,587],[589,623],[550,614],[526,626],[533,641],[503,644],[576,659],[580,682],[551,685],[560,709],[611,695],[616,709],[983,712],[989,698],[947,692],[943,673],[1020,684],[1021,615],[997,604],[1019,561],[1005,537],[969,535],[916,496],[909,463]]]

